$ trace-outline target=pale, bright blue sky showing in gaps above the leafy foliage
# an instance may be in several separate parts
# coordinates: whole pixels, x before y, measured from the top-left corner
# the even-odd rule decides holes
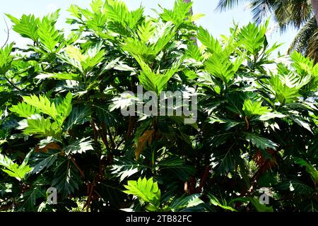
[[[151,10],[152,8],[158,9],[158,4],[165,8],[172,8],[174,1],[172,0],[124,0],[129,8],[134,9],[140,5],[145,6],[145,11],[147,15],[155,16],[155,13]],[[252,13],[249,10],[248,4],[243,4],[235,8],[234,10],[226,12],[216,12],[215,8],[218,3],[218,0],[194,0],[194,13],[204,13],[206,16],[201,18],[196,23],[202,25],[204,28],[207,28],[211,34],[215,37],[220,35],[228,35],[229,28],[232,26],[232,22],[235,21],[240,25],[246,25],[249,21],[252,20]],[[57,23],[57,28],[64,28],[64,30],[69,29],[69,25],[65,24],[65,18],[69,17],[69,13],[66,9],[71,4],[77,4],[83,8],[88,8],[90,0],[8,0],[1,4],[0,13],[3,18],[0,18],[0,46],[6,40],[6,33],[4,32],[6,25],[4,23],[4,18],[6,16],[4,13],[10,13],[13,16],[20,18],[23,14],[35,14],[35,16],[43,16],[49,12],[61,8],[61,16]],[[6,18],[9,25],[11,25],[8,18]],[[270,24],[270,27],[273,28],[274,23]],[[285,53],[288,49],[290,42],[295,37],[297,33],[294,29],[289,29],[284,34],[281,34],[277,30],[271,30],[269,32],[269,44],[273,42],[284,43],[280,47],[279,51]],[[16,42],[19,45],[28,43],[28,40],[20,37],[15,32],[11,30],[10,32],[10,41]]]

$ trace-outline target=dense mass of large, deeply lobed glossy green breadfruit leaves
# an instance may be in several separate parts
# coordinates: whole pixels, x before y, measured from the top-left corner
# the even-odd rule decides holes
[[[158,18],[121,1],[90,6],[69,8],[68,37],[59,11],[7,15],[32,44],[0,50],[0,210],[318,209],[317,64],[273,59],[267,23],[217,40],[182,0]],[[196,123],[122,116],[137,85],[192,90]]]

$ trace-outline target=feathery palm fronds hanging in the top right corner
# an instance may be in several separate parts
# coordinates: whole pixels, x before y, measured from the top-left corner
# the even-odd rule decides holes
[[[248,0],[253,20],[261,23],[270,14],[281,32],[288,26],[299,29],[288,53],[298,51],[318,62],[318,0]],[[247,0],[219,0],[217,10],[224,11]]]

